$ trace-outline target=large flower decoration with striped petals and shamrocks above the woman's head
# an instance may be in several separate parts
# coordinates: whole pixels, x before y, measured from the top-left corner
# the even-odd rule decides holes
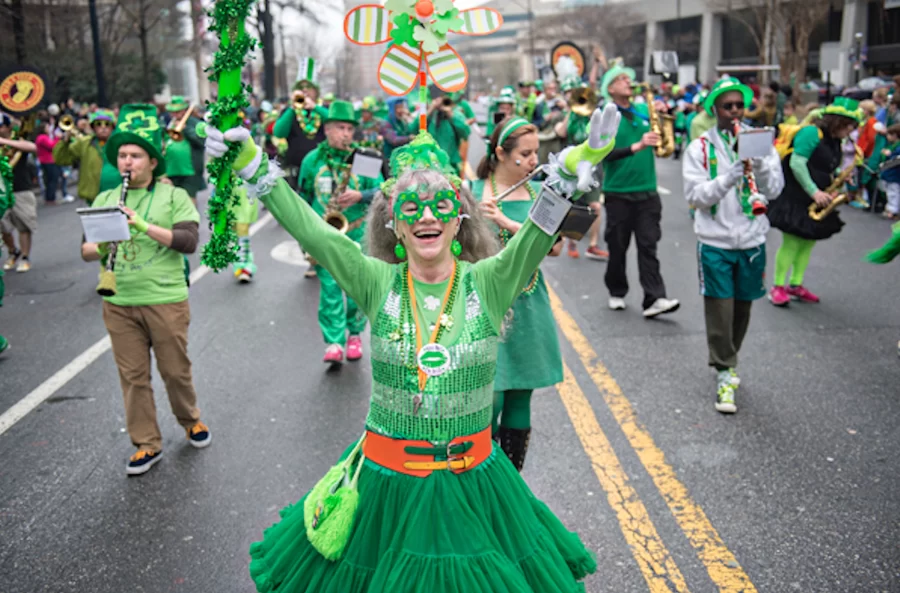
[[[384,6],[364,4],[348,12],[344,34],[357,45],[389,42],[378,65],[378,82],[389,95],[408,94],[423,61],[434,84],[452,93],[466,86],[469,71],[447,35],[488,35],[502,24],[493,8],[460,11],[453,0],[387,0]]]

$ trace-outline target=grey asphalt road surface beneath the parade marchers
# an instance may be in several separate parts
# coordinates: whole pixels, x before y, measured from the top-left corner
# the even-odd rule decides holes
[[[860,263],[889,225],[845,210],[807,274],[822,303],[755,305],[740,411],[724,417],[679,171],[659,164],[662,271],[680,311],[646,321],[639,292],[609,311],[604,264],[545,264],[571,370],[535,396],[525,479],[596,551],[590,593],[900,591],[900,269]],[[33,270],[6,277],[0,414],[105,336],[74,208],[40,210]],[[337,373],[320,362],[317,284],[293,245],[269,222],[253,284],[208,274],[191,288],[210,448],[188,446],[157,381],[165,458],[126,478],[108,351],[0,435],[0,591],[253,591],[248,546],[359,435],[367,407],[367,357]]]

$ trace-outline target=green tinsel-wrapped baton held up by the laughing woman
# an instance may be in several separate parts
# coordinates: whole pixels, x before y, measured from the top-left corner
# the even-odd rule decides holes
[[[249,85],[241,82],[241,70],[247,54],[256,48],[256,39],[247,35],[244,23],[254,0],[216,0],[209,30],[219,35],[219,49],[207,70],[209,79],[218,83],[219,97],[207,103],[209,123],[219,130],[229,130],[240,124],[240,112],[250,106]],[[203,247],[200,261],[213,271],[238,260],[238,236],[234,232],[234,214],[230,206],[238,204],[234,192],[238,183],[231,166],[240,153],[240,145],[229,146],[221,157],[207,165],[210,181],[216,190],[209,199],[209,225],[212,236]]]

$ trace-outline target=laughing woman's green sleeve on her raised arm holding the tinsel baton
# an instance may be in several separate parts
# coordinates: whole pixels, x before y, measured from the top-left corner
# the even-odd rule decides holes
[[[271,193],[260,199],[304,251],[334,276],[366,316],[375,319],[391,288],[393,266],[363,255],[359,244],[337,232],[309,204],[298,200],[284,179],[279,179]]]

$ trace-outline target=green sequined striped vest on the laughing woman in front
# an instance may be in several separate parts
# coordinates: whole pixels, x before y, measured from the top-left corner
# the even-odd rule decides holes
[[[450,352],[450,369],[428,379],[417,414],[413,414],[413,398],[419,391],[416,333],[414,327],[402,327],[406,278],[401,273],[404,267],[397,266],[391,291],[372,323],[369,430],[437,443],[490,426],[498,335],[475,290],[472,267],[459,264],[463,269],[458,299],[465,303],[465,324],[453,344],[444,344]]]

